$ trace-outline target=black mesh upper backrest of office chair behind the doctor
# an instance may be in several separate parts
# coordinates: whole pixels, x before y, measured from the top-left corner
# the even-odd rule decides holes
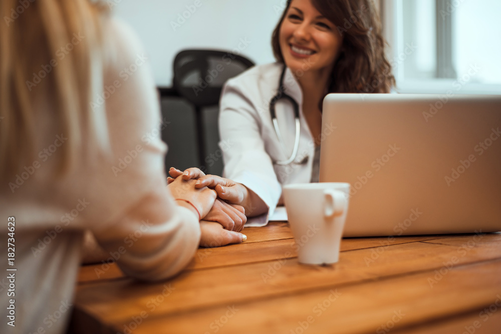
[[[219,103],[221,89],[229,78],[254,62],[226,51],[184,50],[174,59],[174,88],[197,107]]]

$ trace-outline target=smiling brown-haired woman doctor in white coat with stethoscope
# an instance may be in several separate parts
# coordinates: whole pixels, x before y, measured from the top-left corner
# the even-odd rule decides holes
[[[276,63],[255,66],[222,90],[224,177],[169,171],[245,207],[246,226],[268,222],[283,185],[318,182],[322,134],[334,128],[321,128],[327,93],[388,93],[395,82],[372,0],[290,0],[272,45]]]

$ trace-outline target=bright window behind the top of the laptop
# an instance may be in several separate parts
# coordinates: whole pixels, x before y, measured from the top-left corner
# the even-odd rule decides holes
[[[501,1],[380,0],[400,92],[501,94]]]

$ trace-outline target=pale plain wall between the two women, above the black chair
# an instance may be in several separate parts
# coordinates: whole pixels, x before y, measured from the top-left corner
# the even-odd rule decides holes
[[[184,48],[236,48],[258,64],[274,61],[271,35],[286,0],[107,2],[115,15],[138,32],[149,53],[157,85],[171,86],[172,62]]]

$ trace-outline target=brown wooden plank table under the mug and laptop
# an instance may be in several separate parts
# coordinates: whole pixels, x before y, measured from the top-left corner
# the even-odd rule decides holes
[[[244,232],[161,283],[83,266],[70,332],[501,333],[501,233],[345,238],[313,266],[286,222]]]

